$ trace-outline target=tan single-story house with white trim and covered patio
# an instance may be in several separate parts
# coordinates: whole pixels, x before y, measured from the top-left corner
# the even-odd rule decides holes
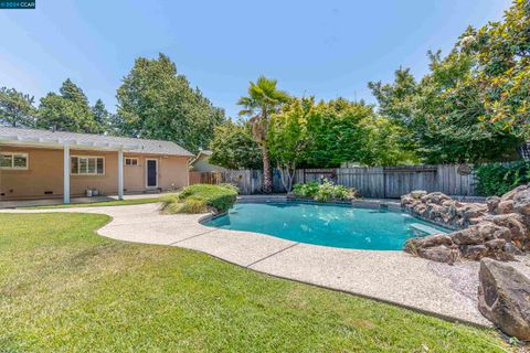
[[[0,127],[0,201],[177,190],[192,157],[170,141]]]

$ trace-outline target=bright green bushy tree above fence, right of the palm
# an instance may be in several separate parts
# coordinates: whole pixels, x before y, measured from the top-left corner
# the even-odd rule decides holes
[[[330,168],[344,162],[363,165],[417,161],[403,146],[401,125],[380,118],[371,105],[344,98],[320,101],[306,117],[304,164]],[[378,145],[375,143],[378,141]]]

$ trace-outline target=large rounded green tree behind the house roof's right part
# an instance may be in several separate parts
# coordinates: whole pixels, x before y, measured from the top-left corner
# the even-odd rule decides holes
[[[225,120],[199,89],[190,87],[171,60],[139,57],[117,90],[116,130],[126,136],[174,141],[197,152]]]

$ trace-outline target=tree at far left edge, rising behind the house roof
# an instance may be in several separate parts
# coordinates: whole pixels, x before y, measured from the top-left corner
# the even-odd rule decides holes
[[[33,96],[14,88],[0,88],[0,122],[11,127],[32,127],[35,122]]]

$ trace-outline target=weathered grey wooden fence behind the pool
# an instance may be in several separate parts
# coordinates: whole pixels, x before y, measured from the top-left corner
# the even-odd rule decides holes
[[[275,192],[285,192],[279,171],[275,170],[273,176]],[[201,178],[211,180],[208,183],[233,183],[242,194],[256,194],[261,192],[263,173],[259,170],[230,170],[221,172],[216,179]],[[365,197],[393,199],[413,190],[441,191],[454,196],[477,195],[475,175],[465,164],[299,169],[294,183],[321,181],[324,178],[356,188]],[[190,183],[191,179],[190,174]]]

